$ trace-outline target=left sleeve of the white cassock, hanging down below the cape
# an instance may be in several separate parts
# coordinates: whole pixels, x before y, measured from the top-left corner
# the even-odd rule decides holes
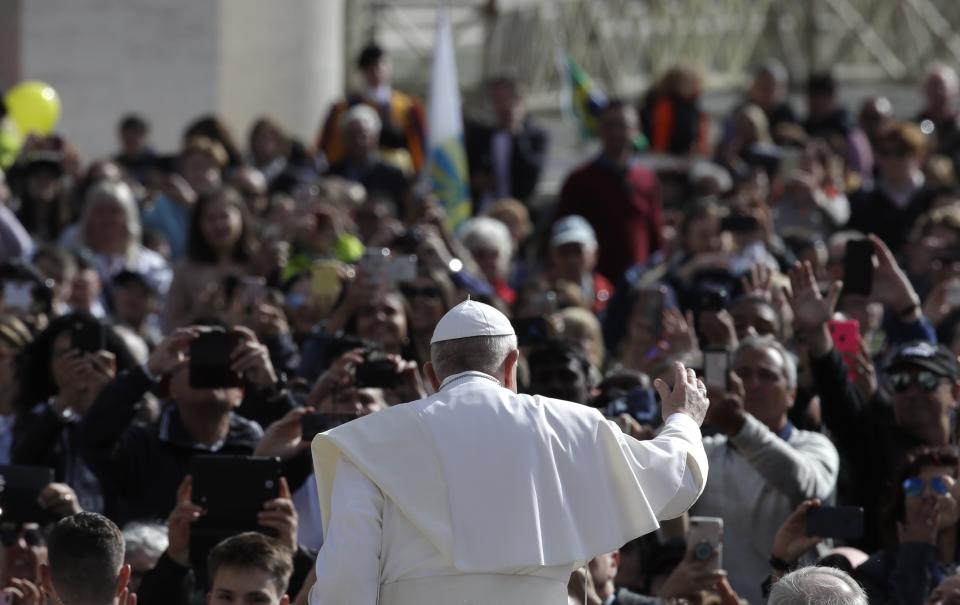
[[[317,557],[310,605],[376,605],[380,592],[383,493],[352,463],[337,462],[330,527]]]

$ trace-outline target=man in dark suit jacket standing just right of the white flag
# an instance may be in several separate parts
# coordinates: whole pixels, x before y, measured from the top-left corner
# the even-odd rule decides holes
[[[467,128],[467,159],[477,212],[498,199],[527,202],[547,162],[550,136],[527,116],[523,86],[494,78],[487,94],[496,123]]]

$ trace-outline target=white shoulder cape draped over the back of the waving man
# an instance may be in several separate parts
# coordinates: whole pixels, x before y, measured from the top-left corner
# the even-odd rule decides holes
[[[340,456],[466,573],[616,550],[659,527],[657,513],[677,494],[688,459],[675,441],[626,438],[593,408],[517,395],[483,378],[318,435],[324,532]],[[705,465],[704,457],[692,469],[701,489]]]

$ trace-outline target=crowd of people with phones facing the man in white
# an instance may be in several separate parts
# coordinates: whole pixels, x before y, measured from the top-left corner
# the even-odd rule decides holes
[[[421,102],[382,49],[357,67],[316,136],[264,117],[243,145],[206,116],[164,155],[131,114],[111,158],[34,136],[6,169],[0,470],[49,473],[35,518],[0,495],[11,598],[305,603],[323,542],[310,437],[428,394],[434,327],[469,295],[512,319],[523,392],[638,439],[673,362],[708,383],[691,514],[723,520],[722,564],[687,547],[684,515],[575,573],[571,603],[762,603],[811,564],[870,603],[960,602],[951,67],[906,116],[883,97],[851,113],[829,74],[795,108],[765,64],[717,117],[678,66],[600,109],[600,151],[555,196],[538,193],[548,132],[523,84],[494,78],[492,121],[465,119],[474,216],[456,226],[420,178]],[[230,346],[200,365],[214,333]],[[217,372],[235,381],[203,383]],[[280,459],[256,515],[271,538],[197,546],[191,469],[210,454]],[[837,505],[862,508],[863,531],[808,535],[808,511]],[[101,593],[70,596],[97,561]]]

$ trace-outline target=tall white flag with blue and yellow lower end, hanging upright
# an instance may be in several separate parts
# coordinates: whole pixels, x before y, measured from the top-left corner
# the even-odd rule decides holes
[[[470,218],[473,208],[470,203],[467,152],[463,143],[457,61],[450,34],[450,17],[442,1],[437,7],[437,34],[427,112],[430,179],[434,193],[447,211],[447,226],[456,229]]]

